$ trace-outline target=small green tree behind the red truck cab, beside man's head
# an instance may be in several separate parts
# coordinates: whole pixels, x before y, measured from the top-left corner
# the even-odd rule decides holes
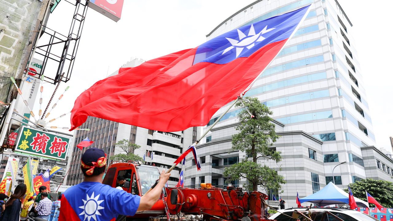
[[[136,162],[138,161],[144,162],[142,157],[134,154],[134,151],[136,149],[141,148],[140,145],[133,144],[129,140],[123,139],[123,140],[119,140],[119,142],[117,142],[115,146],[119,147],[125,153],[116,154],[110,157],[110,160],[119,160],[121,162],[127,162],[129,160],[136,161]]]

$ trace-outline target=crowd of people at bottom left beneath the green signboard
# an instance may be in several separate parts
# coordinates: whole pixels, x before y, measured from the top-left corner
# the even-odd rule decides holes
[[[26,201],[26,189],[26,184],[19,184],[10,197],[0,193],[0,221],[24,221],[30,212],[34,213],[34,217],[57,221],[62,195],[52,202],[46,186],[41,186],[39,194]]]

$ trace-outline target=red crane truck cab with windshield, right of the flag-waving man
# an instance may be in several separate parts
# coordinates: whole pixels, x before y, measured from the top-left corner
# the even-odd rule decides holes
[[[143,196],[159,179],[160,171],[154,166],[139,164],[138,162],[112,162],[102,183],[116,188],[119,186],[118,176],[124,177],[129,182],[122,187],[124,191]],[[134,217],[149,217],[149,214],[164,214],[164,205],[161,199],[154,204],[151,210],[138,212]]]

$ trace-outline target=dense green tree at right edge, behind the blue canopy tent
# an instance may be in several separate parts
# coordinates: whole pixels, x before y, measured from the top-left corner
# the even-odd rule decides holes
[[[393,208],[393,182],[386,180],[363,179],[349,184],[351,191],[355,197],[366,201],[366,191],[374,197],[378,203],[386,208]],[[344,189],[349,192],[348,188]],[[370,207],[375,207],[370,203]]]

